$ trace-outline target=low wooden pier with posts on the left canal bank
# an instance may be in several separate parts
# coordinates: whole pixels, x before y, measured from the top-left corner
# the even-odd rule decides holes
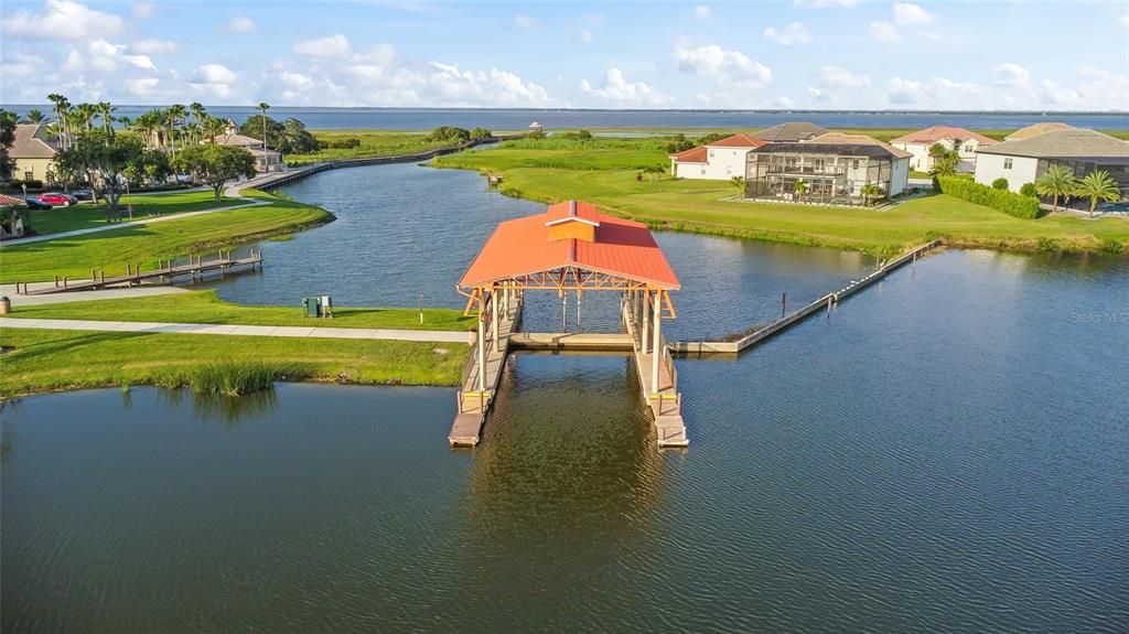
[[[215,259],[203,259],[202,256],[189,256],[187,264],[173,264],[172,261],[158,261],[157,267],[142,271],[141,265],[126,264],[124,275],[106,276],[105,270],[90,270],[90,276],[70,279],[67,275],[55,275],[54,284],[29,289],[27,282],[16,282],[16,292],[25,296],[64,293],[72,291],[93,291],[113,287],[135,287],[142,283],[172,283],[176,278],[190,276],[198,280],[207,273],[218,272],[221,275],[243,268],[253,271],[262,267],[263,254],[253,249],[246,257],[231,257],[231,252],[219,252]]]

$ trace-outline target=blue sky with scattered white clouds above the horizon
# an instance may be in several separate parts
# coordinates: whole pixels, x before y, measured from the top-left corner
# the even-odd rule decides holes
[[[1129,111],[1129,1],[5,0],[0,103]]]

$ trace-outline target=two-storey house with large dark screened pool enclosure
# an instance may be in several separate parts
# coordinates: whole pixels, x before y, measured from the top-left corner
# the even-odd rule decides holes
[[[768,143],[749,155],[745,195],[751,199],[865,204],[874,185],[895,196],[909,182],[910,152],[859,134],[829,132],[798,143]],[[796,192],[803,180],[805,193]]]

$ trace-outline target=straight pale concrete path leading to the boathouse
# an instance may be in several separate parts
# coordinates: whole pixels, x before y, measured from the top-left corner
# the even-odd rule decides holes
[[[114,333],[175,333],[189,335],[234,335],[263,337],[419,341],[464,343],[471,333],[457,331],[395,331],[388,328],[325,328],[305,326],[236,326],[230,324],[161,324],[156,322],[95,322],[81,319],[19,319],[0,317],[3,328],[41,331],[99,331]]]

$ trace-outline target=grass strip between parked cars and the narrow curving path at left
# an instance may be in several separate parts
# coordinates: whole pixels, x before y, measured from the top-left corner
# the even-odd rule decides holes
[[[222,197],[219,201],[209,192],[180,192],[175,194],[145,194],[132,196],[133,218],[122,210],[122,222],[146,220],[155,215],[183,213],[185,211],[202,211],[221,206],[231,206],[245,201]],[[126,199],[122,197],[122,206]],[[32,228],[40,236],[87,229],[108,224],[105,204],[80,203],[75,206],[56,206],[49,210],[30,212]]]

